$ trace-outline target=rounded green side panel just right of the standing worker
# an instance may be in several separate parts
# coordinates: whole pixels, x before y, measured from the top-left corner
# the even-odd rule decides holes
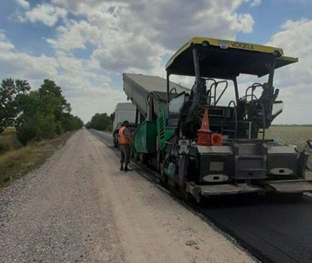
[[[145,154],[156,152],[156,135],[156,121],[141,123],[133,137],[136,152]]]

